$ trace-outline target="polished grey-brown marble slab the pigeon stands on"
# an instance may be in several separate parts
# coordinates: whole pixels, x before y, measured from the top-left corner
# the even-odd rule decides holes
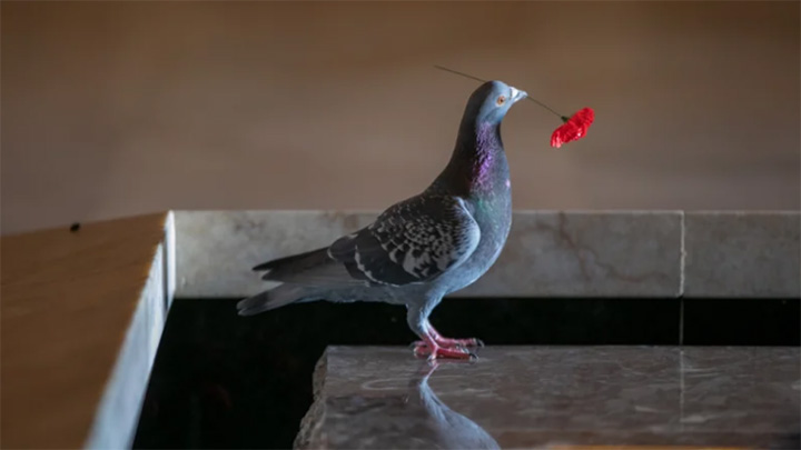
[[[474,362],[329,347],[298,448],[801,446],[784,347],[488,347]]]

